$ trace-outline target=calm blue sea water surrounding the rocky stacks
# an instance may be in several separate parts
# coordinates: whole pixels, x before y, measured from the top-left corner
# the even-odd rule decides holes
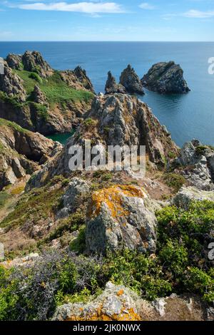
[[[0,56],[40,51],[58,70],[80,65],[86,69],[97,92],[104,91],[107,72],[118,79],[128,63],[140,78],[153,63],[175,61],[184,70],[191,91],[187,95],[161,96],[146,91],[143,101],[166,125],[178,145],[198,138],[214,145],[214,75],[208,74],[208,58],[214,57],[214,43],[170,42],[1,42]]]

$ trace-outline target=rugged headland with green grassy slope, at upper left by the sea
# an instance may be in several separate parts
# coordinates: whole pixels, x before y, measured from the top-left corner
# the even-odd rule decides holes
[[[39,52],[9,54],[0,76],[0,117],[44,135],[66,133],[90,108],[86,71],[54,71]]]

